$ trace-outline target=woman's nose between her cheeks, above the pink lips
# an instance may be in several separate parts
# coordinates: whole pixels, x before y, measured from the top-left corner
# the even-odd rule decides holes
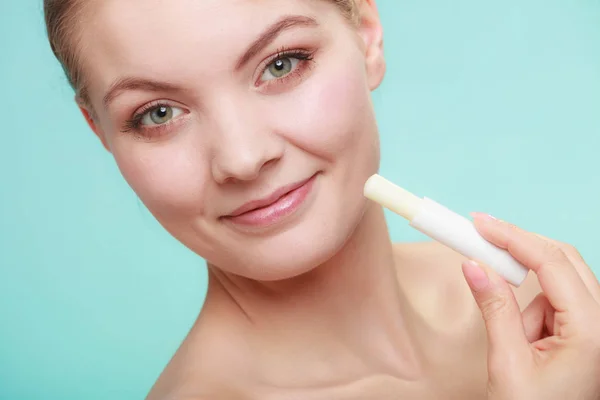
[[[224,107],[220,102],[214,141],[212,174],[217,183],[251,181],[279,161],[283,139],[269,129],[247,104]]]

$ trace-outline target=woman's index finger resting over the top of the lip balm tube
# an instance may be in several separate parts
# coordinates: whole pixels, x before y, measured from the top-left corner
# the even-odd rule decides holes
[[[537,274],[556,311],[575,311],[593,298],[566,254],[539,236],[485,214],[474,215],[475,227],[494,245]]]

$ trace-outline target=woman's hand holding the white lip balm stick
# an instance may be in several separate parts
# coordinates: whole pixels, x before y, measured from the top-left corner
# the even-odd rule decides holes
[[[474,223],[536,273],[543,291],[521,313],[498,274],[463,264],[487,330],[488,399],[600,399],[600,284],[591,269],[568,245],[484,214]]]

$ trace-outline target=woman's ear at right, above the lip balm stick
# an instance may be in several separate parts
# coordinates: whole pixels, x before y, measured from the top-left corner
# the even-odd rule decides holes
[[[369,87],[377,89],[383,80],[386,63],[383,53],[383,27],[375,0],[359,0],[358,29],[365,44],[365,62]]]

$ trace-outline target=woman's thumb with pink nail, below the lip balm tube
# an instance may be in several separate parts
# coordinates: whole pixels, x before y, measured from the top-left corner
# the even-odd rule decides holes
[[[512,289],[499,275],[474,261],[463,263],[463,274],[485,321],[490,369],[516,367],[531,350]]]

